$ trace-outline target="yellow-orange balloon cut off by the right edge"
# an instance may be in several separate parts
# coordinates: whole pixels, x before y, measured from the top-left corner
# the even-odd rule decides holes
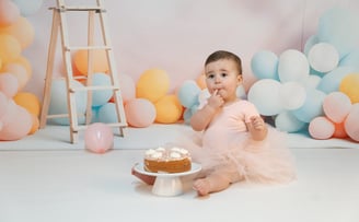
[[[359,103],[359,73],[347,74],[339,84],[339,91],[345,93],[352,104]]]

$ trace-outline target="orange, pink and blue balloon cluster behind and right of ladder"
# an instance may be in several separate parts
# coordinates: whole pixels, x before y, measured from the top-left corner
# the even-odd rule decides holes
[[[108,62],[103,50],[93,51],[92,85],[111,85],[108,75]],[[73,56],[74,75],[79,81],[72,84],[81,87],[88,77],[88,52],[78,50]],[[81,77],[82,75],[82,77]],[[183,106],[180,104],[175,94],[170,94],[170,78],[162,69],[146,70],[135,82],[128,74],[118,74],[121,98],[124,103],[126,119],[129,126],[143,128],[153,122],[173,124],[183,116]],[[84,114],[86,109],[86,93],[77,92],[77,112]],[[117,122],[116,106],[113,103],[112,91],[92,92],[92,113],[91,122]],[[51,87],[51,100],[49,114],[66,114],[67,96],[66,83],[63,80],[56,80]],[[84,115],[82,115],[84,116]],[[68,118],[55,118],[55,124],[69,125]],[[80,118],[79,122],[84,124],[85,119]]]

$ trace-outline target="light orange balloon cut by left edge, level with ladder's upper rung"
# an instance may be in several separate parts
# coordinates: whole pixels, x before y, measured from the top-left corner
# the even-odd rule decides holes
[[[0,34],[0,58],[3,63],[9,63],[18,59],[21,55],[19,40],[8,34]]]

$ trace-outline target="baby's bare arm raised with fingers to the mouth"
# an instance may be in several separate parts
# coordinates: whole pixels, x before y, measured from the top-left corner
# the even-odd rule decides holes
[[[212,120],[216,113],[223,105],[223,98],[217,94],[217,91],[208,98],[208,103],[198,109],[190,118],[190,126],[195,131],[205,130]]]

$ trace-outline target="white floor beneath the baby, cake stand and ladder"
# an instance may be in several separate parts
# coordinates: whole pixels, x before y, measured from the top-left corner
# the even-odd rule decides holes
[[[198,198],[159,197],[130,175],[143,149],[177,138],[180,125],[128,129],[115,149],[93,154],[69,142],[67,127],[0,142],[0,222],[245,221],[358,222],[359,144],[289,135],[298,180],[282,186],[235,184]]]

